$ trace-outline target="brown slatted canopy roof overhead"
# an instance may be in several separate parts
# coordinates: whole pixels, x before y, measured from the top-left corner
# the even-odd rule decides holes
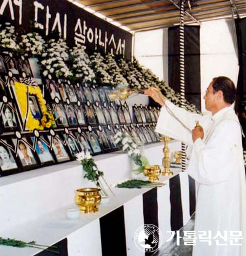
[[[172,27],[180,21],[180,0],[75,0],[132,31]],[[186,24],[246,17],[246,0],[186,0]],[[86,9],[86,8],[85,8]],[[107,19],[109,22],[110,19]],[[111,22],[113,22],[111,21]]]

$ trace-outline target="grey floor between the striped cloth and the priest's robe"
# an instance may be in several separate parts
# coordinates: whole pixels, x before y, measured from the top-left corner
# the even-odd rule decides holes
[[[183,236],[183,231],[194,231],[195,213],[192,215],[188,223],[180,229],[180,236]],[[192,246],[185,246],[183,239],[180,239],[180,246],[177,246],[176,234],[173,239],[166,242],[154,254],[154,256],[192,256]]]

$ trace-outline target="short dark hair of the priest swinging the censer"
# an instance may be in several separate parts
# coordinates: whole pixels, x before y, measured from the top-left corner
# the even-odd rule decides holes
[[[224,101],[232,104],[236,100],[236,87],[230,78],[218,76],[213,78],[213,92],[222,91]]]

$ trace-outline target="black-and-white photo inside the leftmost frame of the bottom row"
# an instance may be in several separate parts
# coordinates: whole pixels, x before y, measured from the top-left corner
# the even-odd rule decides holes
[[[4,140],[6,142],[6,140]],[[4,144],[0,144],[0,170],[2,172],[17,169],[12,152]]]

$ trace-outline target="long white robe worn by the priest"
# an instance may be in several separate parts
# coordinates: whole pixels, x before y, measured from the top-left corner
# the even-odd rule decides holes
[[[197,239],[192,255],[245,256],[246,184],[242,134],[237,115],[232,106],[225,107],[213,116],[202,116],[189,113],[169,101],[166,104],[169,110],[162,107],[157,133],[193,145],[186,170],[198,185]],[[170,114],[170,110],[176,118]],[[204,139],[196,139],[193,143],[191,131],[177,118],[191,130],[199,120],[204,128]],[[242,231],[240,237],[243,239],[237,239],[239,231]]]

